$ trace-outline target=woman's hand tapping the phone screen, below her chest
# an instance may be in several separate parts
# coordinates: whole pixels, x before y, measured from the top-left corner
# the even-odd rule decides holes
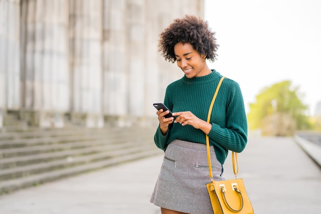
[[[175,123],[179,122],[184,125],[192,125],[195,129],[202,130],[205,134],[208,134],[212,129],[212,124],[199,119],[191,112],[175,112],[173,116],[177,116],[175,118]]]

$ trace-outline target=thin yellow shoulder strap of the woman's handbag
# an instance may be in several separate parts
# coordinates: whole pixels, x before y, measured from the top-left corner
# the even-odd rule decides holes
[[[218,82],[218,85],[217,85],[217,88],[215,90],[214,96],[212,98],[212,102],[211,102],[211,105],[210,105],[210,108],[209,108],[209,111],[208,111],[208,115],[207,115],[207,122],[208,123],[210,122],[214,101],[216,99],[218,90],[219,90],[220,85],[222,84],[224,78],[225,78],[224,76],[222,78],[220,78],[220,80]],[[212,174],[211,154],[210,154],[210,139],[209,139],[208,135],[206,135],[206,148],[207,148],[207,159],[208,159],[208,167],[209,167],[209,176],[210,176],[211,181],[212,181],[213,180],[213,174]],[[235,169],[235,162],[236,162],[237,169]],[[238,161],[237,161],[237,153],[235,153],[235,152],[232,152],[232,164],[233,164],[233,172],[234,172],[235,178],[237,178]]]

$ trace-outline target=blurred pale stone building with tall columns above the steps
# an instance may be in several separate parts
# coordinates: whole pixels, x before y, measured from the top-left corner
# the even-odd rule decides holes
[[[157,51],[174,18],[204,0],[0,0],[0,127],[131,125],[182,77]]]

